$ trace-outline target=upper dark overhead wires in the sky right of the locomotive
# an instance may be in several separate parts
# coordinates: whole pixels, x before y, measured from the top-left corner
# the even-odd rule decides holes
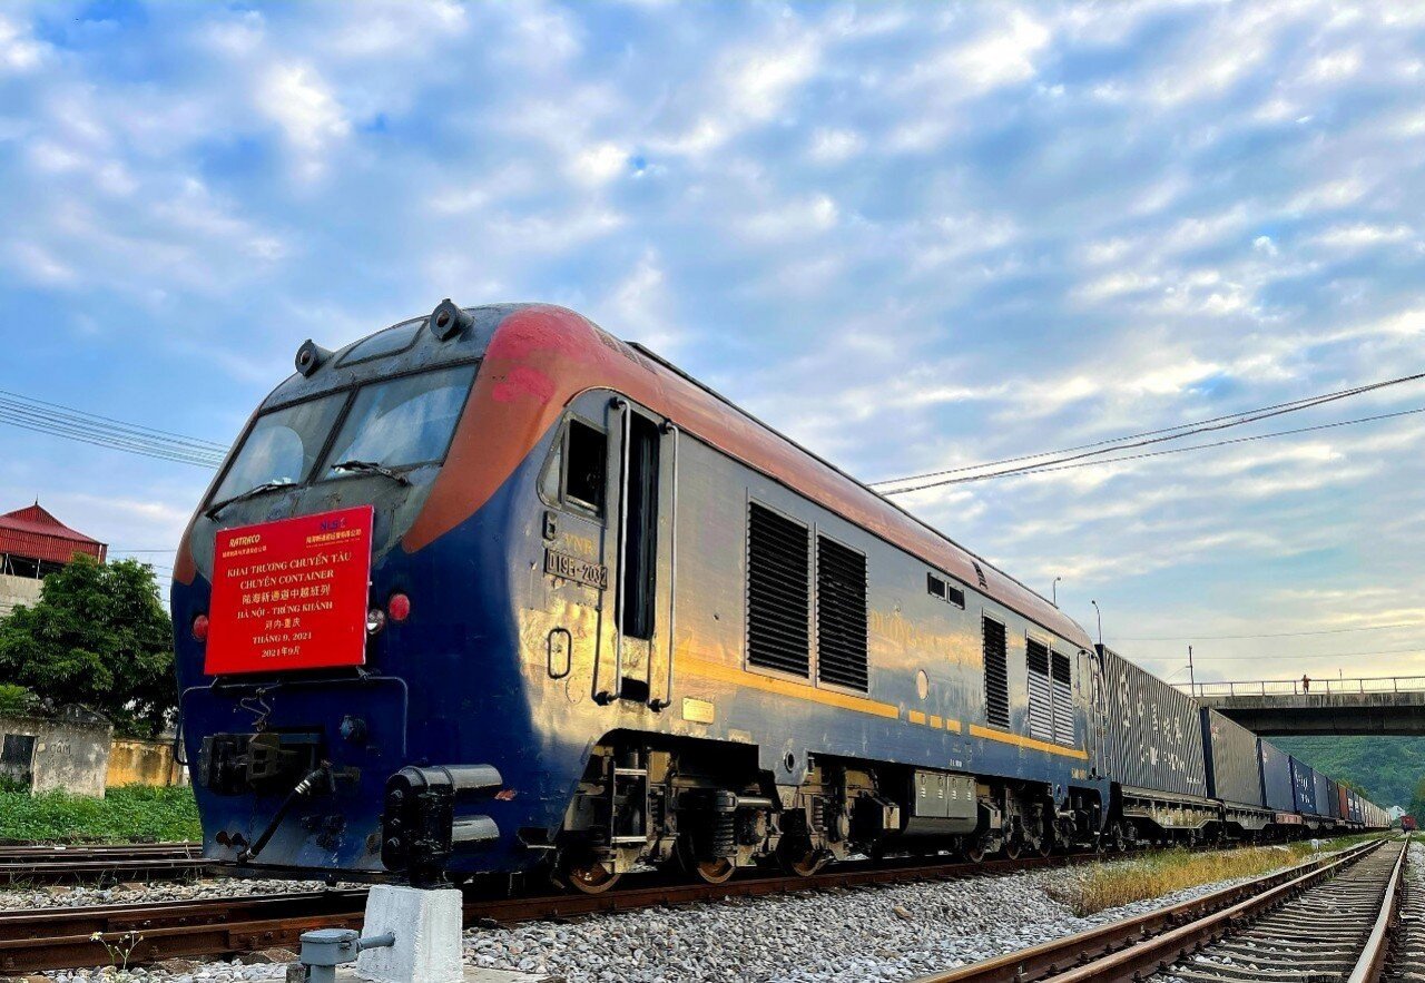
[[[1271,406],[1263,406],[1253,410],[1243,410],[1238,413],[1228,413],[1224,416],[1214,416],[1206,420],[1197,420],[1194,423],[1181,423],[1173,427],[1163,427],[1157,430],[1143,430],[1139,433],[1129,433],[1120,437],[1109,437],[1106,440],[1097,440],[1093,443],[1077,444],[1073,447],[1064,447],[1062,450],[1046,450],[1036,454],[1020,454],[1016,457],[1003,457],[1000,460],[983,462],[979,464],[965,464],[960,467],[950,467],[939,472],[925,472],[921,474],[909,474],[905,477],[885,479],[881,482],[872,482],[871,487],[882,489],[888,484],[903,484],[906,482],[921,482],[922,479],[938,479],[953,474],[965,474],[966,472],[978,472],[988,467],[996,467],[999,464],[1017,464],[1016,467],[1006,467],[998,472],[989,472],[985,474],[972,474],[966,477],[949,477],[940,482],[925,482],[915,484],[912,487],[899,487],[884,490],[882,494],[903,494],[906,492],[919,492],[922,489],[938,487],[942,484],[956,484],[962,482],[978,482],[988,477],[1002,477],[1007,474],[1019,474],[1027,472],[1047,470],[1049,466],[1062,464],[1067,462],[1076,462],[1080,459],[1096,457],[1099,454],[1112,454],[1120,450],[1130,450],[1133,447],[1146,447],[1150,444],[1164,443],[1168,440],[1180,440],[1183,437],[1193,436],[1196,433],[1210,433],[1214,430],[1224,430],[1234,426],[1244,426],[1247,423],[1255,423],[1258,420],[1271,419],[1275,416],[1282,416],[1285,413],[1295,413],[1304,409],[1312,409],[1315,406],[1322,406],[1327,403],[1334,403],[1341,399],[1348,399],[1351,396],[1359,396],[1362,393],[1375,392],[1385,389],[1388,386],[1399,386],[1406,382],[1416,382],[1425,379],[1425,372],[1414,373],[1408,376],[1398,376],[1395,379],[1384,379],[1381,382],[1372,382],[1361,386],[1352,386],[1351,389],[1340,389],[1330,393],[1320,393],[1317,396],[1305,396],[1302,399],[1294,399],[1287,403],[1274,403]],[[1207,444],[1204,444],[1207,446]],[[1217,446],[1217,444],[1213,444]],[[1082,453],[1074,453],[1082,452]],[[1039,460],[1049,457],[1050,460]],[[1124,457],[1123,460],[1131,460]],[[1019,463],[1030,462],[1030,463]]]

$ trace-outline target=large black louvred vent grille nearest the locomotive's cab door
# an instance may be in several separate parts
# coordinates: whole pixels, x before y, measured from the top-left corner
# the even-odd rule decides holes
[[[811,536],[754,503],[747,516],[747,661],[807,675],[811,647]]]

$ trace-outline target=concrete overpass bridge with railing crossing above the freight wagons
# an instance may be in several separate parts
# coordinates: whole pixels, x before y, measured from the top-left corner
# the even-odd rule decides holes
[[[1194,682],[1181,688],[1263,737],[1425,737],[1425,675]]]

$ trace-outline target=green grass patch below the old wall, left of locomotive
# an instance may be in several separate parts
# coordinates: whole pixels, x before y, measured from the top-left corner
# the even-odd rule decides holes
[[[103,799],[0,791],[0,842],[133,843],[200,839],[190,788],[111,788]]]

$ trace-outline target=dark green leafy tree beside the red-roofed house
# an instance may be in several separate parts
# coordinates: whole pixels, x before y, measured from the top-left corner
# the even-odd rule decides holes
[[[0,678],[155,735],[177,707],[172,624],[148,564],[77,557],[0,621]]]

